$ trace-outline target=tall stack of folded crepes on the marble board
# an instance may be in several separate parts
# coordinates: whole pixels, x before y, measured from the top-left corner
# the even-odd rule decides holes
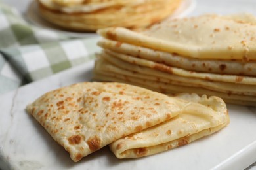
[[[140,33],[100,29],[103,50],[95,79],[255,106],[255,21],[250,14],[204,15],[165,21]]]

